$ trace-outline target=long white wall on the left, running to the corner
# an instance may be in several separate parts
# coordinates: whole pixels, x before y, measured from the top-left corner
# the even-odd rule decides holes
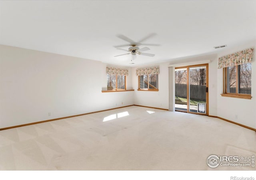
[[[0,128],[134,104],[132,91],[101,92],[106,66],[0,45]],[[131,76],[129,68],[128,88]]]

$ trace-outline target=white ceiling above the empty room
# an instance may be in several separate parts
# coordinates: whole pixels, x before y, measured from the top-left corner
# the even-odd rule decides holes
[[[154,57],[114,46],[143,41]],[[0,1],[0,44],[137,66],[212,54],[256,39],[256,0]],[[141,45],[140,48],[145,46]],[[128,49],[129,46],[122,47]]]

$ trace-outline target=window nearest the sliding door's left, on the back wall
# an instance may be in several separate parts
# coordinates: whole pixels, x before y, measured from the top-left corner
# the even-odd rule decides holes
[[[138,90],[158,91],[158,74],[138,76]]]

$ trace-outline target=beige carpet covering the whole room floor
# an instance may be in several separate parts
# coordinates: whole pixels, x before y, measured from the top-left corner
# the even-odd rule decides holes
[[[256,170],[206,164],[252,153],[252,130],[138,106],[0,131],[0,170]]]

